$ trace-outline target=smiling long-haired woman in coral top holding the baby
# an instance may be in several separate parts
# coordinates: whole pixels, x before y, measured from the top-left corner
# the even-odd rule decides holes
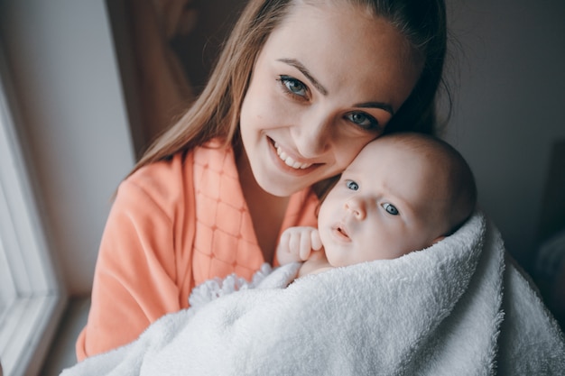
[[[405,4],[404,4],[405,3]],[[79,360],[273,263],[329,181],[383,133],[432,133],[442,1],[252,0],[199,98],[120,185]]]

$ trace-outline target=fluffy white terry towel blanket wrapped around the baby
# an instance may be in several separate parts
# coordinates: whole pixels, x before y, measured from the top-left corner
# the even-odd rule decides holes
[[[194,307],[62,375],[565,374],[559,326],[480,212],[396,260],[286,287],[296,270],[258,276],[256,288],[212,282]]]

